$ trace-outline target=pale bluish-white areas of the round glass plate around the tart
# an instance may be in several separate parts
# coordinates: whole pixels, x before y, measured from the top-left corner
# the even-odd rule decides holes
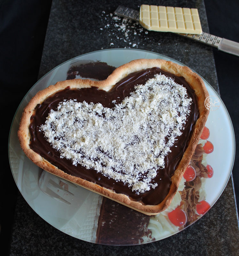
[[[77,188],[69,187],[69,190],[74,190],[73,194],[75,194],[75,196],[64,196],[66,201],[70,202],[70,204],[62,203],[44,194],[39,188],[39,178],[43,170],[33,164],[20,148],[17,138],[20,117],[24,107],[36,92],[46,88],[50,84],[55,84],[58,81],[66,79],[67,71],[73,63],[85,63],[89,60],[99,60],[107,62],[108,65],[118,67],[124,63],[139,58],[164,59],[183,65],[164,55],[143,50],[110,49],[87,53],[62,63],[43,76],[24,97],[12,122],[9,135],[9,159],[13,177],[21,194],[32,209],[52,226],[70,236],[74,236],[84,241],[96,243],[96,230],[102,197],[78,186]],[[219,95],[210,84],[204,79],[203,81],[209,95],[217,96],[220,99]],[[222,101],[220,103],[220,107],[216,111],[210,111],[206,123],[206,126],[210,130],[209,140],[214,145],[214,151],[207,156],[207,163],[212,166],[214,175],[211,179],[205,179],[203,189],[206,193],[205,200],[211,206],[217,201],[227,185],[235,156],[235,136],[233,126],[225,105]],[[203,214],[201,216],[203,216]],[[169,228],[168,230],[167,225],[165,227],[166,230],[163,232],[162,230],[155,228],[153,236],[154,241],[179,232],[177,227],[174,227],[173,229]],[[128,241],[124,240],[121,242],[116,235],[116,238],[113,238],[111,242],[104,241],[103,239],[100,243],[131,245],[131,236],[133,236],[133,234],[131,235],[129,233]],[[133,244],[144,244],[149,242],[152,242],[152,238],[144,237],[138,243],[133,242]]]

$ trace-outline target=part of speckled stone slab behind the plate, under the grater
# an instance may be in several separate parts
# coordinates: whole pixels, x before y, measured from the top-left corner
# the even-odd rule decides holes
[[[130,4],[129,1],[100,1],[100,4],[97,1],[90,4],[80,2],[82,5],[75,1],[53,1],[39,78],[78,55],[100,49],[127,47],[157,52],[176,59],[203,76],[218,91],[211,46],[173,33],[147,31],[144,28],[139,35],[137,28],[142,28],[140,25],[136,29],[132,28],[126,38],[125,31],[114,27],[115,22],[110,13],[114,13],[118,5],[139,10],[145,1],[133,1]],[[151,1],[150,4],[159,3]],[[198,8],[202,29],[209,32],[203,1],[160,1],[160,5]],[[135,30],[137,35],[134,35]]]

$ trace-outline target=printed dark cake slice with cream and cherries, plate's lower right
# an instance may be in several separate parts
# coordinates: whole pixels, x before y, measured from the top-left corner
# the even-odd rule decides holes
[[[165,211],[146,216],[103,197],[96,242],[129,244],[129,237],[131,244],[159,240],[177,233],[207,212],[210,204],[206,201],[205,181],[213,176],[206,161],[213,146],[210,152],[203,148],[208,137],[209,129],[205,127],[178,191]]]

